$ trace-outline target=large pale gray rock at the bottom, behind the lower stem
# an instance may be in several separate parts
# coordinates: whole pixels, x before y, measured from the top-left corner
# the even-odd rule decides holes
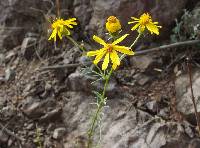
[[[81,92],[67,92],[66,101],[63,107],[64,123],[68,125],[66,148],[79,145],[84,147],[86,139],[75,143],[77,137],[83,137],[90,126],[91,114],[95,106],[90,103],[93,97]],[[189,127],[183,127],[179,123],[167,122],[161,118],[137,110],[132,107],[130,110],[123,105],[124,98],[117,97],[108,100],[109,107],[103,110],[101,119],[100,147],[112,148],[187,148],[192,136]],[[128,102],[127,102],[128,103]],[[190,136],[185,134],[187,131]],[[85,136],[84,136],[85,137]],[[94,143],[99,140],[99,128],[94,135]]]

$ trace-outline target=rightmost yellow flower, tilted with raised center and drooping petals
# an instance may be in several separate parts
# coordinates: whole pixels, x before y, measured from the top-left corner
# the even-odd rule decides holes
[[[138,28],[138,32],[142,33],[144,32],[145,28],[147,28],[151,34],[155,33],[156,35],[159,35],[159,28],[161,26],[158,26],[158,22],[153,22],[151,16],[148,13],[144,13],[140,16],[140,18],[131,17],[134,21],[128,22],[128,24],[134,24],[135,26],[132,27],[131,30],[136,30]]]

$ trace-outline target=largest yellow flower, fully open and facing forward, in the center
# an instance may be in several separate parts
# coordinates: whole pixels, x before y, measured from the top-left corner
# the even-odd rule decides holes
[[[134,55],[134,52],[131,51],[129,47],[117,45],[118,43],[123,41],[127,36],[128,36],[128,34],[125,34],[110,44],[110,43],[106,43],[100,37],[94,35],[93,39],[97,43],[103,45],[103,48],[96,50],[96,51],[89,51],[87,53],[87,56],[96,56],[95,60],[93,61],[94,64],[96,64],[96,65],[105,56],[103,64],[102,64],[102,70],[107,69],[110,59],[113,64],[112,68],[115,70],[117,68],[117,66],[120,65],[120,58],[119,58],[117,52],[127,54],[127,55]]]

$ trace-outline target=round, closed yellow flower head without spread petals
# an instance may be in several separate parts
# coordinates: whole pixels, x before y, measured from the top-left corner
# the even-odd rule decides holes
[[[121,29],[120,21],[115,16],[110,16],[106,22],[106,29],[110,33],[115,33]]]

